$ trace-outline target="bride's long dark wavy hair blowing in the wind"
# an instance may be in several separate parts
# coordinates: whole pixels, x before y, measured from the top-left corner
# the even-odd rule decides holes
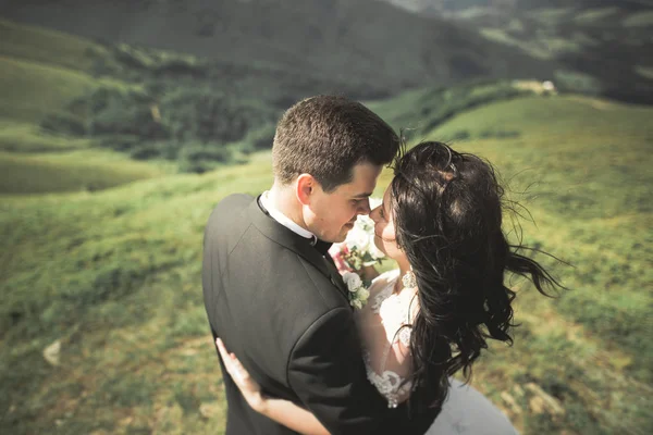
[[[513,343],[515,293],[505,273],[537,289],[559,286],[537,261],[521,256],[502,231],[504,189],[492,165],[436,141],[419,144],[394,162],[391,207],[398,247],[417,278],[412,322],[410,407],[441,407],[448,376],[471,364],[488,339]]]

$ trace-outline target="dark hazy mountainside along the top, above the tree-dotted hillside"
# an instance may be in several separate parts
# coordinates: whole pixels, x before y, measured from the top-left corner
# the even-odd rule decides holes
[[[375,0],[10,1],[0,14],[110,44],[267,62],[391,92],[552,71],[550,62],[475,32]]]

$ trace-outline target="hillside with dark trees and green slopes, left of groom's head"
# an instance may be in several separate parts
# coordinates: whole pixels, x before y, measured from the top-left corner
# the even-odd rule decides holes
[[[178,171],[200,173],[269,149],[282,110],[303,97],[380,95],[378,84],[338,82],[262,60],[110,45],[5,20],[0,20],[0,33],[3,151],[87,148],[98,150],[100,159],[109,149],[122,152],[127,165],[130,159],[167,160],[176,162]],[[84,183],[82,173],[93,172],[70,177],[49,167],[39,172],[36,185],[46,188],[57,175],[50,185],[83,189],[98,185],[97,179]],[[61,183],[63,178],[70,183]],[[16,187],[5,185],[2,191]]]

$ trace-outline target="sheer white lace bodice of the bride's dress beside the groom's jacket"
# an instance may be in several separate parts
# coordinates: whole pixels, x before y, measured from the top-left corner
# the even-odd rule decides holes
[[[368,380],[396,407],[410,394],[410,331],[417,313],[416,290],[395,293],[399,271],[379,275],[369,288],[369,302],[356,312]]]

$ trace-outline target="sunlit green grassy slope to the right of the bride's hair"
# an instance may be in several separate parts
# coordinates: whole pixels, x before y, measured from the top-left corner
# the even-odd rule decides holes
[[[518,344],[505,360],[488,358],[479,369],[479,380],[510,373],[507,394],[517,402],[528,396],[525,382],[558,400],[564,412],[523,415],[527,433],[653,427],[650,116],[650,109],[587,98],[523,99],[464,114],[432,134],[520,132],[470,148],[496,163],[529,208],[535,224],[523,225],[525,241],[572,264],[549,262],[569,291],[555,301],[532,290],[520,295]],[[505,390],[496,393],[510,401]],[[527,400],[531,411],[533,400]]]

